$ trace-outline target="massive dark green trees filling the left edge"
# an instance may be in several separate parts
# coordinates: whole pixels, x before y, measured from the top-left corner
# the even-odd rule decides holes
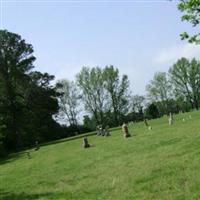
[[[31,44],[0,31],[0,148],[19,150],[59,136],[54,76],[33,71],[34,60]]]

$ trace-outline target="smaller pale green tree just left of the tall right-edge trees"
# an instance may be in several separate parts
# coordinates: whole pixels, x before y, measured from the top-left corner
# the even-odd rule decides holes
[[[151,102],[160,102],[160,111],[169,112],[169,100],[172,98],[171,84],[165,72],[155,73],[153,80],[146,86],[148,98]]]

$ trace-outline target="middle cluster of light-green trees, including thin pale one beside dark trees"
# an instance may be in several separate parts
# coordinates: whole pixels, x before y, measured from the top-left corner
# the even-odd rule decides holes
[[[121,117],[128,110],[128,77],[123,75],[120,79],[119,70],[113,66],[83,67],[76,76],[76,82],[60,80],[56,88],[63,94],[59,98],[60,114],[70,125],[78,124],[77,109],[80,104],[91,116],[85,115],[84,122],[87,124],[91,121],[93,128],[105,123],[119,125]]]

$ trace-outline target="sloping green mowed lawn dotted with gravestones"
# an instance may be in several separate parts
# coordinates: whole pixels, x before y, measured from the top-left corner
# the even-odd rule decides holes
[[[90,136],[88,149],[76,139],[12,155],[0,162],[0,199],[200,199],[200,112],[150,124],[130,124],[127,139]]]

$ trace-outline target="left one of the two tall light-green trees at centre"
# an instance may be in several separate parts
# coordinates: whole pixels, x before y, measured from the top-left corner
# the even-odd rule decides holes
[[[83,67],[77,74],[77,84],[82,91],[85,109],[94,115],[97,124],[103,124],[107,96],[102,69]]]

